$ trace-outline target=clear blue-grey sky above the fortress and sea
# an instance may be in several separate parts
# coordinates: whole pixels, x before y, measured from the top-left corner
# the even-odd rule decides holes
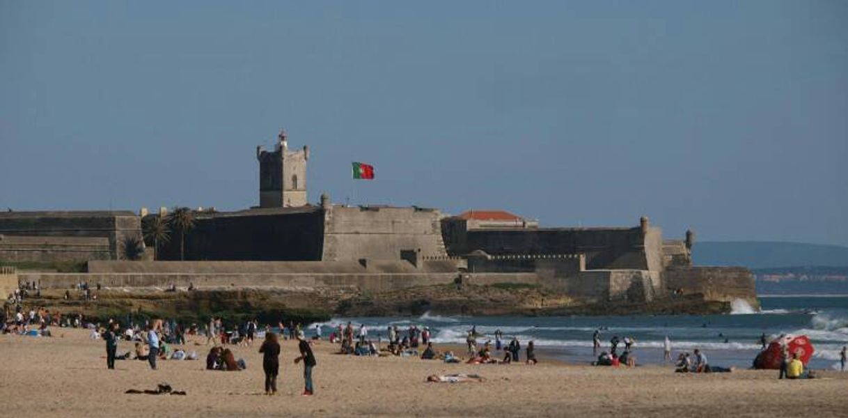
[[[848,2],[0,1],[0,209],[310,202],[848,245]],[[373,164],[375,181],[351,179]]]

